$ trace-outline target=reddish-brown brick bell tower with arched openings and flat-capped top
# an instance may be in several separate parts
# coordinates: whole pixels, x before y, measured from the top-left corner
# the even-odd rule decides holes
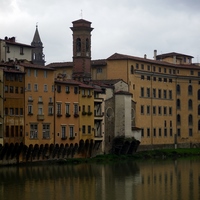
[[[79,19],[73,27],[73,73],[72,78],[88,82],[91,79],[91,22]]]

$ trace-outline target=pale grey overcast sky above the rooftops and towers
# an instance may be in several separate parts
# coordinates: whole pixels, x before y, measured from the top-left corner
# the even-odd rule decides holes
[[[30,44],[38,23],[46,64],[72,61],[70,27],[80,18],[94,28],[92,59],[153,59],[156,49],[200,62],[200,0],[0,0],[0,38]]]

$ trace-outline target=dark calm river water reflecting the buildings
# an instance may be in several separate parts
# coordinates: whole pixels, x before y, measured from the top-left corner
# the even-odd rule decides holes
[[[0,200],[198,200],[200,159],[0,168]]]

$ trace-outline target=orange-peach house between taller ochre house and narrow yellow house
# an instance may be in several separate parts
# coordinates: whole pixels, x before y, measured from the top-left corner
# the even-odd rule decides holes
[[[55,80],[55,144],[79,144],[79,83],[70,79]]]

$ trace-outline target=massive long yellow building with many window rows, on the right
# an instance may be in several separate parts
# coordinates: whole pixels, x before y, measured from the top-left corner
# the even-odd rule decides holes
[[[200,68],[191,64],[191,56],[164,55],[151,60],[116,53],[107,59],[106,70],[92,69],[92,74],[98,69],[101,77],[128,83],[136,126],[142,128],[141,149],[200,143]]]

